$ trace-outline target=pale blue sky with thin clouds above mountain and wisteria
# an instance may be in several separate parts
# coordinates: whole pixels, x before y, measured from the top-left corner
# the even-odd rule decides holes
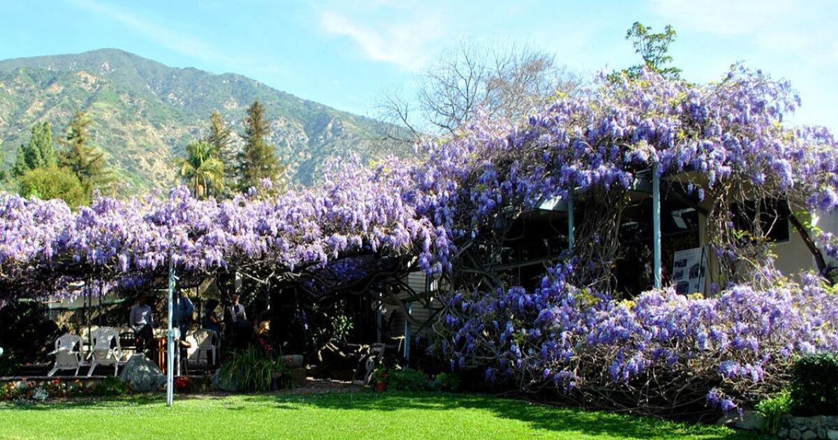
[[[838,131],[838,2],[638,0],[3,1],[0,59],[115,47],[178,67],[235,72],[375,116],[383,91],[462,39],[528,44],[572,70],[637,62],[631,23],[671,23],[675,64],[715,80],[735,61],[792,81],[795,122]]]

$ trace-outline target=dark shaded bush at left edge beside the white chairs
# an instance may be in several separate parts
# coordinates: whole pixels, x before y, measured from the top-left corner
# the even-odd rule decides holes
[[[59,328],[38,301],[14,301],[0,308],[0,375],[14,373],[18,365],[48,361]]]

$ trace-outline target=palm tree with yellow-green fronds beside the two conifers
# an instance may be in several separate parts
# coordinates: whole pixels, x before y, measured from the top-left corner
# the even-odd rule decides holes
[[[224,163],[208,142],[192,142],[186,147],[187,157],[180,160],[180,177],[189,185],[196,199],[224,189]]]

